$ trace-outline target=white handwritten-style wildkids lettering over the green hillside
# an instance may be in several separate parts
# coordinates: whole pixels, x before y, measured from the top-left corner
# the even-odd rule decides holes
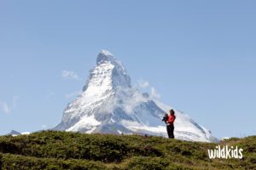
[[[220,145],[216,146],[214,150],[208,150],[208,156],[210,159],[215,158],[223,158],[223,159],[241,159],[242,158],[242,149],[234,148],[233,146],[224,145],[221,147]]]

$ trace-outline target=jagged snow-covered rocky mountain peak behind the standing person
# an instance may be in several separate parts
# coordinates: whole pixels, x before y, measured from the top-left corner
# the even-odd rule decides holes
[[[82,93],[67,105],[61,123],[54,129],[83,133],[146,133],[166,137],[166,125],[161,119],[170,109],[133,88],[124,65],[113,54],[102,50]],[[206,128],[175,111],[177,139],[217,141]]]

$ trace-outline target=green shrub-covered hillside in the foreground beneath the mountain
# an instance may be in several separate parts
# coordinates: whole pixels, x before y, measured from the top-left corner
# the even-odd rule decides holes
[[[138,135],[44,131],[0,137],[2,169],[256,169],[256,136],[220,145],[241,147],[243,158],[209,159],[217,144]]]

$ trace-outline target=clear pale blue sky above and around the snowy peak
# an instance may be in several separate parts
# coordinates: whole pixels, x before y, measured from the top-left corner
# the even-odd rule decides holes
[[[133,84],[150,82],[214,136],[255,135],[255,8],[235,0],[1,0],[0,134],[61,122],[104,48]]]

